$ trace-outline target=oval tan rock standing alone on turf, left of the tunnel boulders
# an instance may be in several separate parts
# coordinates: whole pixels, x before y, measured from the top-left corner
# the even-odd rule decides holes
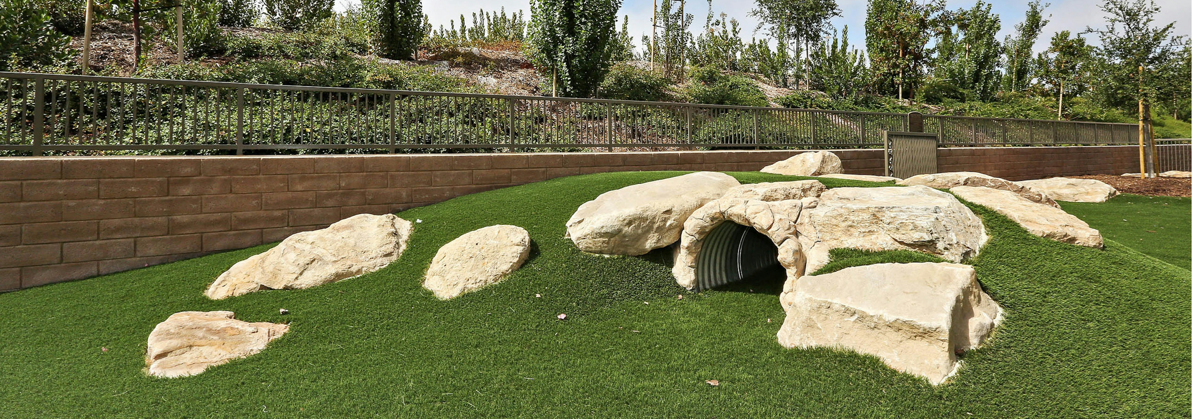
[[[490,225],[439,248],[422,287],[441,300],[497,283],[530,256],[530,233],[515,225]]]

